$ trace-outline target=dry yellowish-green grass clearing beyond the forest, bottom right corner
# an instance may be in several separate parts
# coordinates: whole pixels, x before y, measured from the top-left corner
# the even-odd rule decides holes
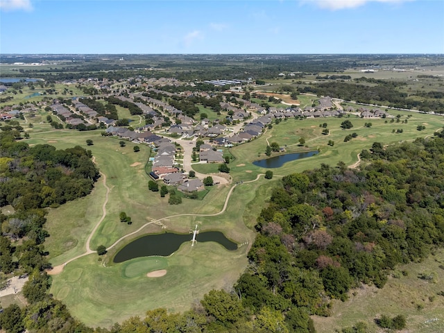
[[[444,332],[444,296],[437,294],[444,291],[443,265],[444,250],[439,250],[423,262],[399,266],[382,289],[364,286],[350,291],[346,302],[334,301],[332,316],[313,317],[316,332],[332,332],[359,321],[368,325],[368,332],[385,332],[374,323],[382,314],[391,318],[404,314],[407,330],[402,332]],[[421,280],[421,273],[434,273],[436,279]]]

